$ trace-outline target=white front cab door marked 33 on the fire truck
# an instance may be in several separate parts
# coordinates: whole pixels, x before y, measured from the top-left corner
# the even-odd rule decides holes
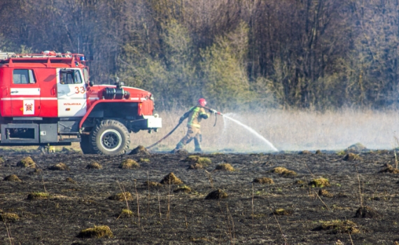
[[[86,87],[80,69],[57,69],[58,117],[82,117],[87,110]]]

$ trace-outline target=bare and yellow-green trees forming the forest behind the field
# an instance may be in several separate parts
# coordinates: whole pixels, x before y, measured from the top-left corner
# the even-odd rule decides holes
[[[393,108],[398,0],[1,0],[3,52],[80,52],[158,109]]]

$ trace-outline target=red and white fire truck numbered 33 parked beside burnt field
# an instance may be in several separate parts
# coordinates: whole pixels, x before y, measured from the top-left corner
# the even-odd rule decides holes
[[[81,54],[0,52],[0,146],[70,146],[85,154],[129,152],[130,133],[158,131],[153,94],[93,85]]]

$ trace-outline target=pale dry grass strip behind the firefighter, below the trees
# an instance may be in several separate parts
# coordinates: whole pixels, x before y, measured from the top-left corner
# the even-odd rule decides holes
[[[187,107],[190,105],[187,105]],[[211,105],[210,105],[211,106]],[[135,134],[134,146],[149,146],[173,129],[185,111],[162,111],[162,129],[159,133],[148,134],[146,131]],[[267,110],[261,112],[239,111],[228,116],[252,127],[283,151],[344,150],[360,142],[370,149],[391,149],[392,132],[399,132],[397,111],[290,111]],[[204,151],[225,152],[230,148],[235,152],[270,151],[270,148],[256,137],[251,137],[247,130],[230,120],[218,118],[216,127],[214,117],[202,120],[202,148]],[[154,151],[171,151],[176,143],[186,134],[186,127],[180,126],[174,134],[152,148]],[[215,132],[218,132],[216,135]],[[232,133],[234,132],[234,133]],[[186,146],[193,151],[193,144]]]

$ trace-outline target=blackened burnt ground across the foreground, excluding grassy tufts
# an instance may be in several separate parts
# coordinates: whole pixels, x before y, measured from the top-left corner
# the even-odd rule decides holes
[[[336,153],[204,154],[212,161],[206,169],[214,189],[228,193],[223,200],[204,200],[213,190],[211,182],[204,169],[188,169],[187,155],[30,155],[43,169],[39,174],[16,167],[25,156],[7,153],[0,165],[0,209],[20,216],[17,221],[0,223],[0,244],[335,244],[338,239],[344,244],[351,244],[351,239],[353,244],[393,244],[399,240],[399,174],[378,173],[386,163],[395,162],[393,151],[362,153],[354,161],[344,161]],[[126,158],[149,162],[141,161],[140,169],[118,168]],[[58,162],[69,171],[47,169]],[[92,162],[103,169],[86,169]],[[214,170],[222,162],[236,170]],[[269,172],[279,166],[297,176]],[[192,193],[174,193],[176,185],[170,186],[170,195],[169,185],[151,187],[148,193],[148,179],[160,182],[170,172]],[[3,181],[10,174],[22,181]],[[321,176],[330,181],[323,189],[332,197],[319,199],[315,193],[320,188],[307,184]],[[380,217],[354,218],[360,207],[358,176],[363,205],[378,211]],[[66,182],[67,177],[76,183]],[[274,184],[252,186],[259,177],[269,177]],[[133,217],[118,218],[126,202],[108,199],[121,189],[133,195],[127,203]],[[33,192],[50,197],[27,200]],[[289,210],[290,215],[274,216],[275,209]],[[346,220],[357,224],[357,233],[319,228],[325,221]],[[77,237],[80,230],[94,225],[108,225],[114,237]]]

